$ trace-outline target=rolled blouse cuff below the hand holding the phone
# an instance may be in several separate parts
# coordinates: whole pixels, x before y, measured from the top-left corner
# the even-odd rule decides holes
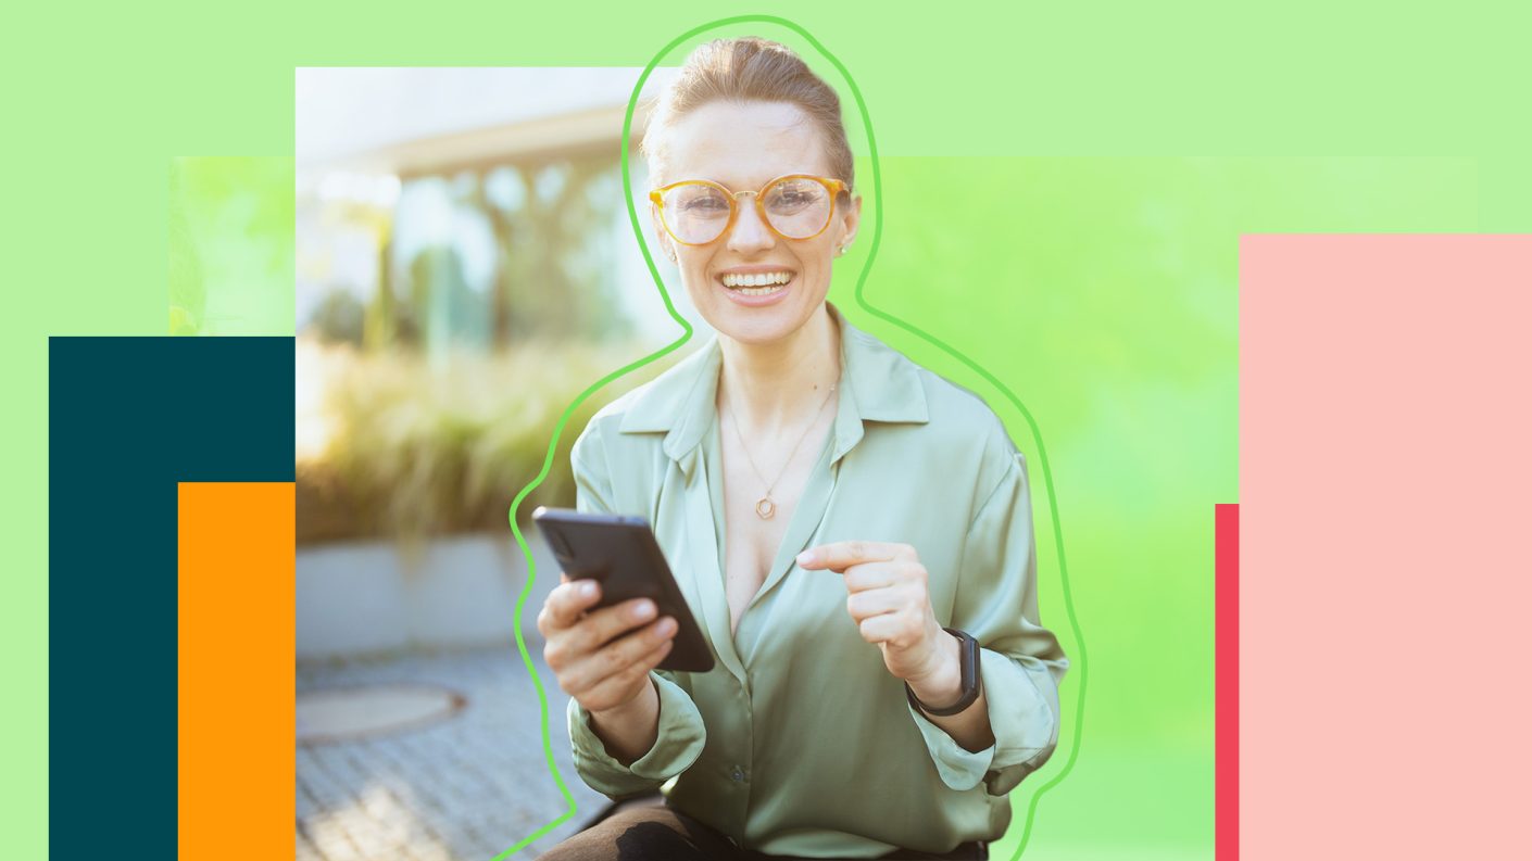
[[[570,697],[568,731],[574,771],[587,786],[617,798],[659,789],[662,783],[691,768],[708,738],[697,703],[679,685],[650,673],[660,697],[659,734],[647,754],[625,766],[607,752],[607,745],[590,728],[590,712]]]

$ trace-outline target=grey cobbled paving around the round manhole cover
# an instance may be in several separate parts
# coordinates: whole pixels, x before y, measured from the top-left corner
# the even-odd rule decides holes
[[[522,633],[541,663],[541,637],[530,625]],[[568,697],[545,668],[541,679],[553,758],[576,814],[516,859],[536,858],[607,803],[570,763]],[[515,645],[297,668],[299,692],[375,682],[441,685],[467,706],[420,729],[299,746],[297,861],[489,861],[565,810],[542,749],[538,696]]]

